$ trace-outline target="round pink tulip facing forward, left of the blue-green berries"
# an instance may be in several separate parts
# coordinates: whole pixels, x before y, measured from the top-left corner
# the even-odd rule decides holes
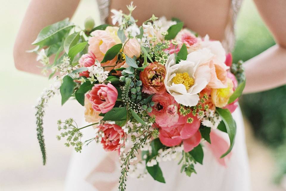
[[[86,97],[91,101],[94,110],[106,113],[114,107],[118,92],[110,83],[95,84]]]

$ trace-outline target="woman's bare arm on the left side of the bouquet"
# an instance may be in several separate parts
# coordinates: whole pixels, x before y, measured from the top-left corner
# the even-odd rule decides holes
[[[37,73],[41,69],[36,62],[35,53],[26,53],[35,46],[31,43],[37,38],[40,30],[50,24],[71,18],[80,0],[32,0],[26,10],[20,30],[14,44],[14,62],[18,70]]]

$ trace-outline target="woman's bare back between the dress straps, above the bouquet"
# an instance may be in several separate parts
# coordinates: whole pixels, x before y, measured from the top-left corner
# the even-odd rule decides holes
[[[116,0],[110,2],[110,9],[122,10],[128,13],[126,4],[129,1]],[[230,0],[133,0],[137,8],[132,15],[138,19],[138,24],[149,19],[152,14],[157,17],[166,16],[167,19],[176,17],[184,21],[188,27],[201,36],[209,34],[212,39],[223,40],[224,30],[229,22],[231,1]],[[111,18],[108,17],[108,23]]]

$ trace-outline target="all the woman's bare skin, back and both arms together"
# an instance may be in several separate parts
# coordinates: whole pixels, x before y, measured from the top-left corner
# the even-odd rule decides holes
[[[110,1],[110,9],[122,9],[125,12],[126,5],[130,4],[130,0]],[[31,0],[15,41],[16,68],[40,73],[41,69],[36,67],[36,55],[25,51],[34,48],[31,42],[43,27],[71,17],[79,2],[80,0]],[[133,16],[139,19],[139,24],[149,19],[152,14],[157,17],[166,16],[167,19],[177,17],[184,21],[185,27],[202,36],[208,33],[210,38],[220,41],[223,40],[225,28],[232,18],[231,0],[133,0],[133,2],[137,6]],[[247,93],[286,84],[286,1],[254,0],[254,2],[277,44],[244,64],[247,78],[244,92]],[[110,17],[107,21],[110,23]]]

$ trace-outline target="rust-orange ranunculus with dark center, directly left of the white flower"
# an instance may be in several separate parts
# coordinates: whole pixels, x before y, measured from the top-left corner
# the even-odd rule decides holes
[[[144,71],[140,73],[140,80],[143,84],[142,92],[147,94],[163,94],[166,91],[164,85],[165,76],[165,66],[157,62],[149,64]]]

